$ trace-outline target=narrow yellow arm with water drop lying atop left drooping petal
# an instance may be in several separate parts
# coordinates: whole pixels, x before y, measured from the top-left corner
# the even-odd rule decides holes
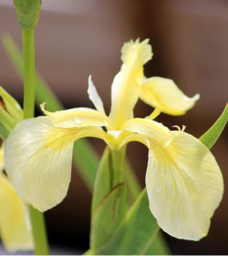
[[[56,127],[73,128],[82,126],[107,126],[109,117],[102,112],[89,108],[75,108],[67,111],[48,112],[45,103],[41,105],[42,111],[47,114]]]

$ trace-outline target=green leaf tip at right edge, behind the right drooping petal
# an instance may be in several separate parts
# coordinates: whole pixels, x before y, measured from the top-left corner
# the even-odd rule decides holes
[[[209,149],[212,148],[212,145],[216,143],[220,134],[223,132],[223,129],[228,120],[228,103],[226,103],[223,113],[218,118],[218,120],[213,123],[212,127],[200,137],[202,144],[205,144]]]

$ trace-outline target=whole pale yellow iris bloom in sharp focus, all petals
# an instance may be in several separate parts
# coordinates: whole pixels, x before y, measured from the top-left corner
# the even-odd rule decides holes
[[[123,45],[109,115],[89,76],[88,97],[96,110],[48,112],[42,104],[46,116],[17,124],[5,142],[5,164],[26,203],[45,211],[66,197],[73,144],[78,139],[96,137],[111,150],[140,142],[149,149],[146,188],[150,211],[161,229],[185,240],[200,240],[207,234],[223,196],[220,168],[208,148],[184,129],[171,131],[154,121],[160,112],[184,114],[199,95],[187,97],[169,79],[146,78],[143,65],[151,57],[148,39]],[[139,99],[155,108],[145,119],[133,117]]]

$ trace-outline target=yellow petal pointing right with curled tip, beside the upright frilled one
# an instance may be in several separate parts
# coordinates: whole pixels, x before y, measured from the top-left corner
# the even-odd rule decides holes
[[[159,77],[145,80],[140,94],[141,101],[171,115],[184,114],[199,98],[199,94],[189,98],[182,93],[173,80]]]

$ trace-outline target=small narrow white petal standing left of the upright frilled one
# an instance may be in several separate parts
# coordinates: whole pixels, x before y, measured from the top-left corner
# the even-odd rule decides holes
[[[88,98],[93,102],[95,108],[98,112],[102,112],[105,114],[103,101],[98,95],[98,91],[92,81],[91,75],[88,77]]]

